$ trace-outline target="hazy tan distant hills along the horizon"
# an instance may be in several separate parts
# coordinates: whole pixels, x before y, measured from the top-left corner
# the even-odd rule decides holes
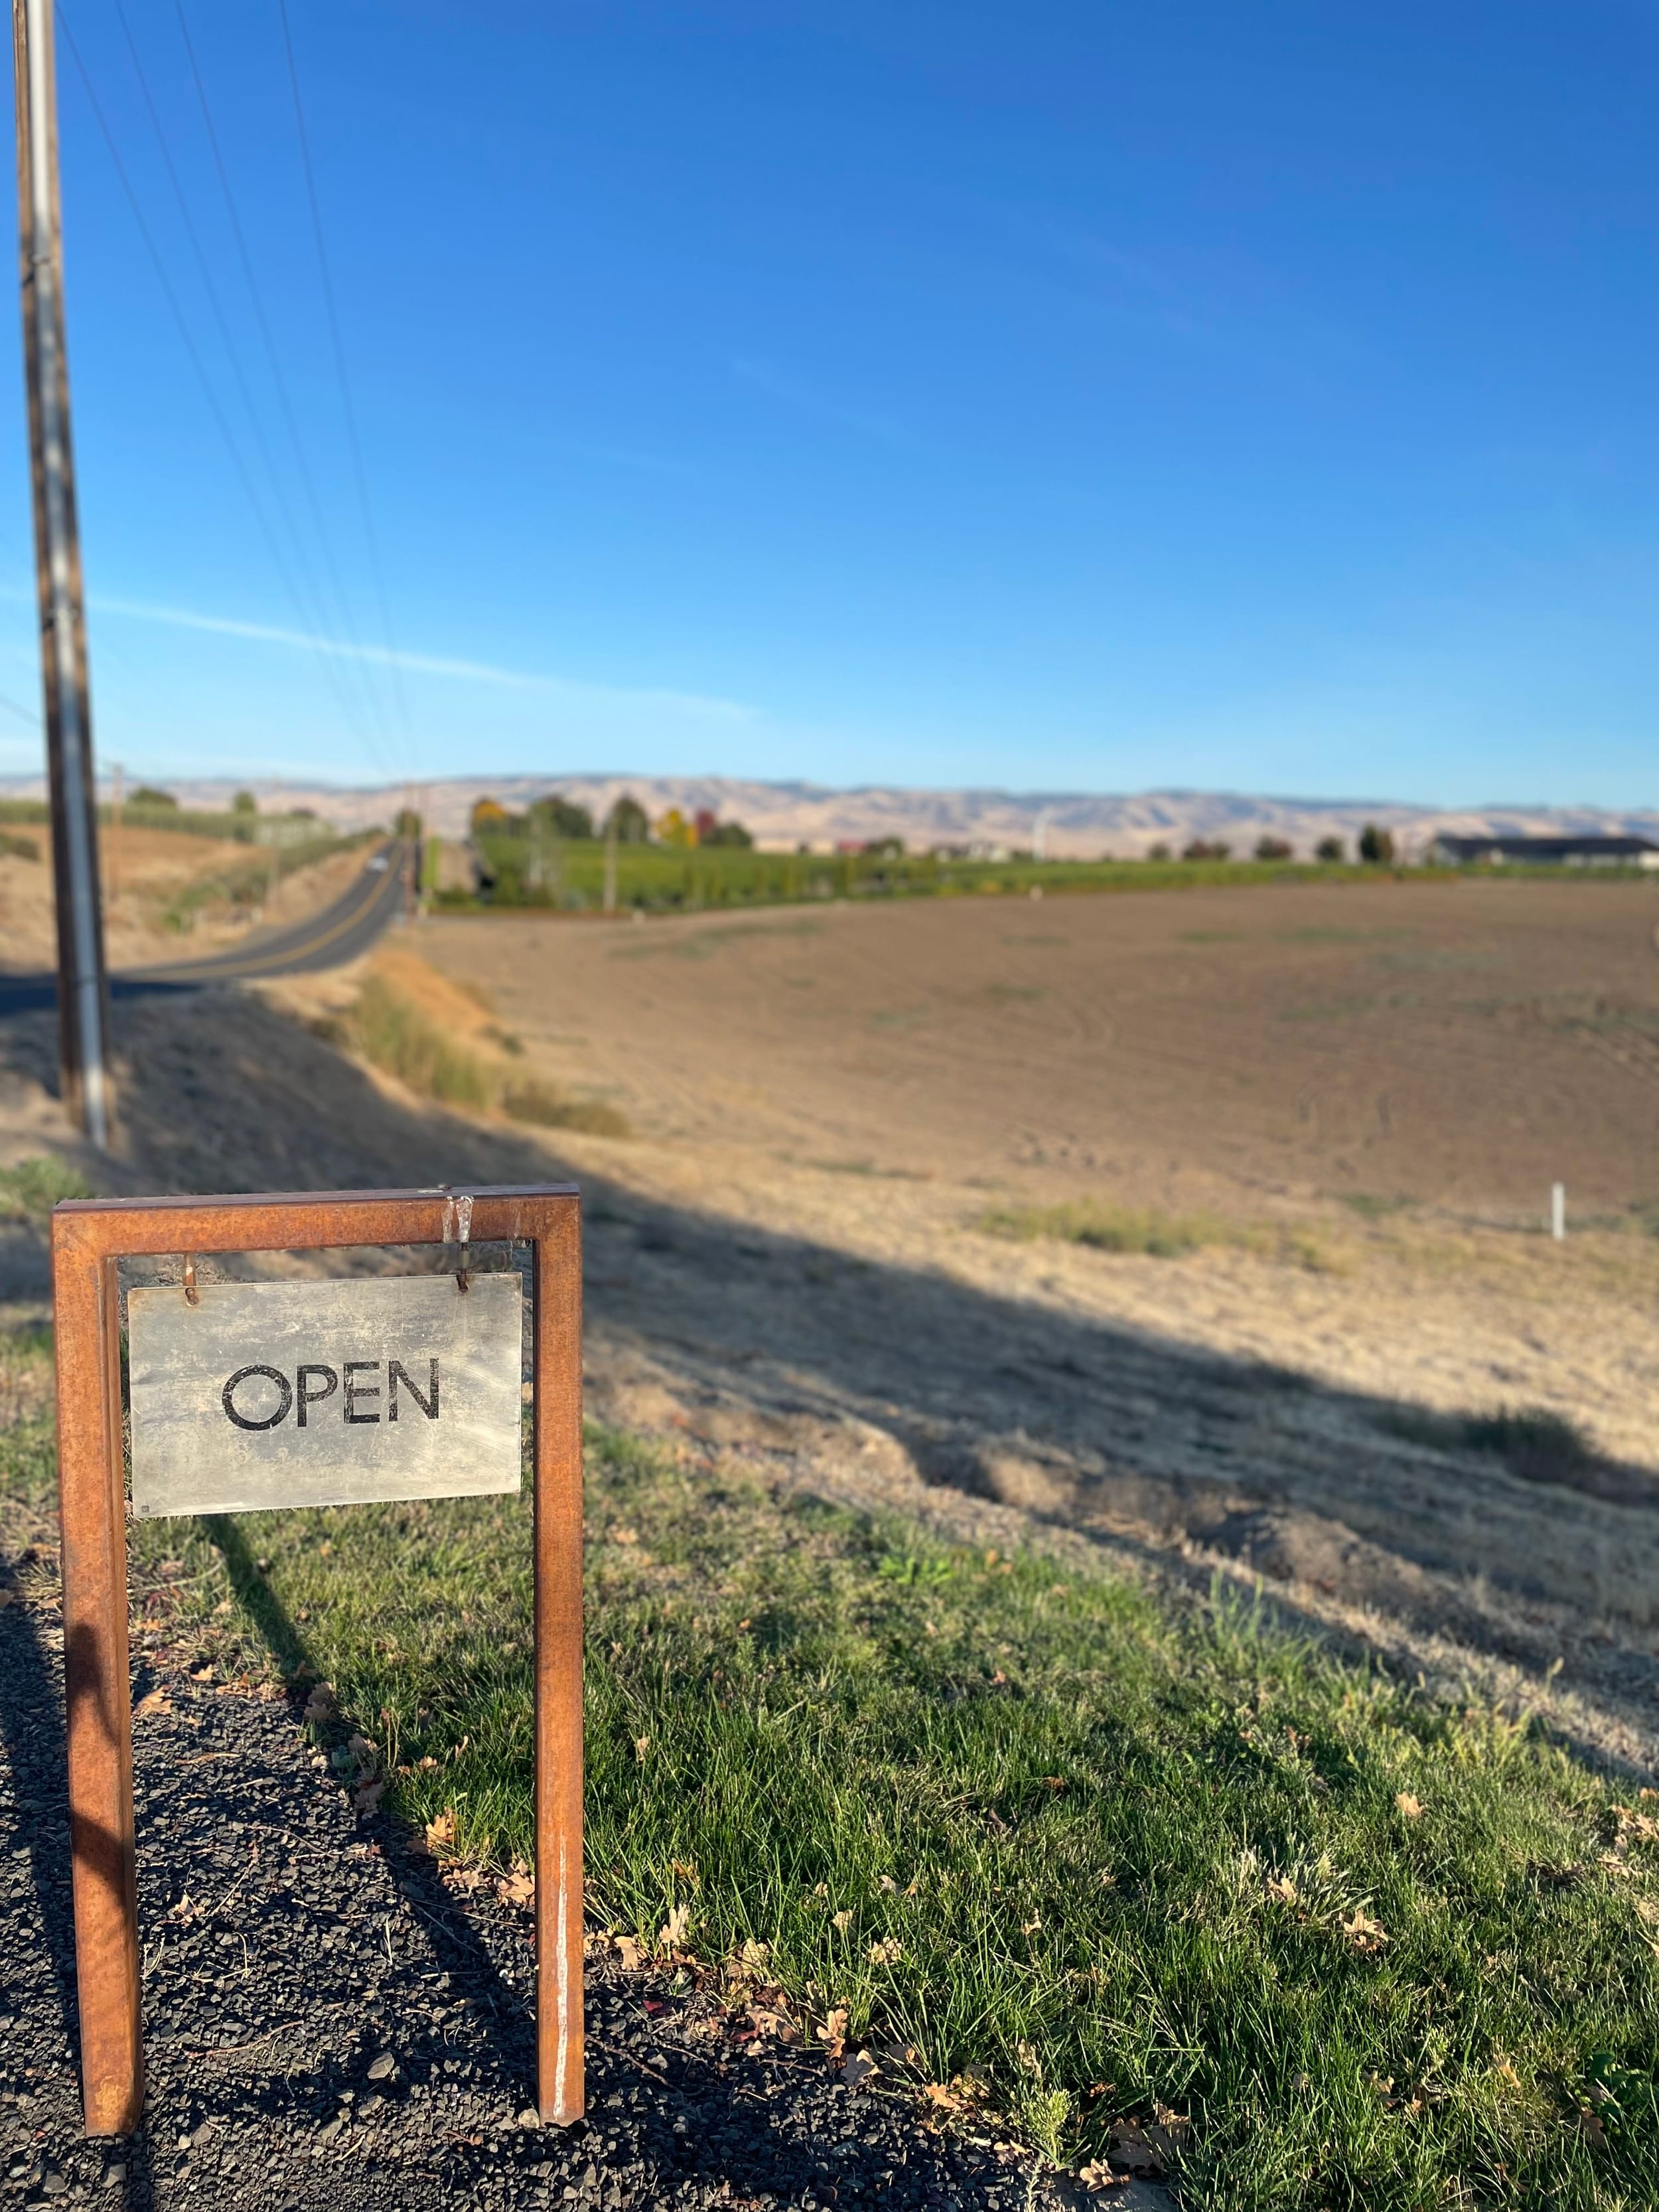
[[[40,776],[0,779],[0,794],[38,799]],[[405,803],[403,785],[272,783],[259,779],[179,779],[168,783],[179,805],[223,807],[237,790],[252,790],[263,810],[312,807],[343,830],[389,823]],[[1248,854],[1259,836],[1281,836],[1298,854],[1318,838],[1349,843],[1365,823],[1394,830],[1396,843],[1420,852],[1440,830],[1464,836],[1564,836],[1624,834],[1659,838],[1659,810],[1635,807],[1420,807],[1396,799],[1270,799],[1250,792],[998,792],[998,790],[909,790],[865,783],[834,790],[823,783],[759,783],[739,776],[447,776],[422,785],[429,823],[445,836],[467,830],[476,799],[500,799],[520,810],[533,799],[560,792],[595,818],[624,792],[655,818],[668,807],[695,814],[710,807],[723,821],[741,821],[757,843],[770,847],[834,847],[900,836],[911,849],[931,845],[1015,847],[1042,845],[1051,858],[1133,858],[1150,845],[1175,852],[1188,838],[1223,838]]]

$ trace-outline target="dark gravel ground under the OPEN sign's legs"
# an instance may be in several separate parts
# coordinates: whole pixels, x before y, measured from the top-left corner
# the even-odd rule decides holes
[[[540,2126],[529,1916],[358,1820],[285,1701],[181,1674],[137,1681],[159,1692],[135,1719],[146,2126],[84,2141],[60,1641],[44,1608],[0,1610],[0,2208],[1073,2199],[1006,2148],[929,2132],[909,2093],[739,2044],[708,1993],[608,1951],[588,1960],[588,2119]]]

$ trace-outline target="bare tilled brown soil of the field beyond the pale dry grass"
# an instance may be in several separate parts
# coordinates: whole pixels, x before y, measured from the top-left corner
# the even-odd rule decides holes
[[[429,956],[657,1135],[1062,1194],[1659,1199],[1659,889],[916,900]]]

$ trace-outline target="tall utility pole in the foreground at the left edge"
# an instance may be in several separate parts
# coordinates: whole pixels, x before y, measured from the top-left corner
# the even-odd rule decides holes
[[[86,686],[86,611],[69,442],[64,241],[58,206],[58,75],[53,0],[11,0],[18,82],[18,243],[29,456],[35,491],[40,672],[58,902],[58,1037],[64,1104],[100,1150],[111,1148],[104,909],[97,891],[97,794]]]

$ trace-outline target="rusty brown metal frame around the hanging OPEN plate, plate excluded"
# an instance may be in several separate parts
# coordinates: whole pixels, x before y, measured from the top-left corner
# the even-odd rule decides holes
[[[465,1267],[467,1243],[509,1241],[533,1252],[538,2108],[562,2126],[582,2117],[582,1201],[575,1186],[69,1199],[53,1208],[51,1265],[69,1832],[88,2135],[131,2135],[144,2106],[119,1261],[460,1245]]]

